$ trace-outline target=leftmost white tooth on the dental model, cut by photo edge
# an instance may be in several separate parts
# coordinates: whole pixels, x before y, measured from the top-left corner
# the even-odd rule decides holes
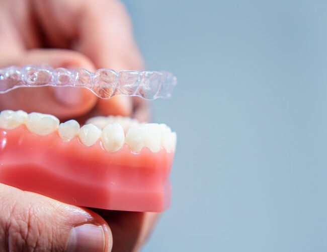
[[[0,113],[0,128],[12,130],[25,123],[27,113],[23,110],[3,110]]]

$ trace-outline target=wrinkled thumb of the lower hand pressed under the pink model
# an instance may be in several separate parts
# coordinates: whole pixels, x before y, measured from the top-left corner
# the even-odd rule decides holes
[[[0,184],[0,251],[103,252],[108,224],[96,213]]]

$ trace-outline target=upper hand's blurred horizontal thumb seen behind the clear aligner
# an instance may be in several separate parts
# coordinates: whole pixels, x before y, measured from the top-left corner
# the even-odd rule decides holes
[[[0,67],[8,65],[49,64],[53,68],[85,68],[94,71],[92,62],[84,55],[63,49],[35,49],[26,51],[21,57],[13,57],[11,62],[2,62]],[[1,109],[22,109],[51,113],[60,118],[77,116],[90,111],[97,98],[87,89],[71,87],[18,88],[0,95]]]

